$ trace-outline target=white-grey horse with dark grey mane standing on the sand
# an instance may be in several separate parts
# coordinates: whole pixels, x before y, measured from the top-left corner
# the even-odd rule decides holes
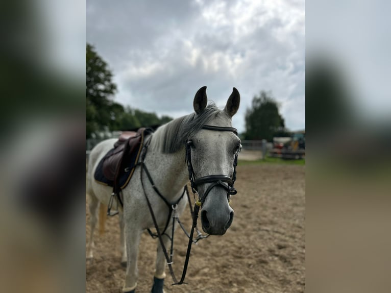
[[[213,102],[208,104],[204,86],[195,93],[193,113],[174,119],[145,137],[149,146],[148,152],[145,150],[143,164],[149,174],[143,172],[140,166],[135,168],[132,179],[122,190],[123,209],[119,209],[121,262],[127,264],[124,293],[134,293],[137,286],[138,246],[142,232],[154,227],[154,221],[160,230],[170,231],[173,224],[167,222],[165,201],[176,203],[179,215],[184,211],[188,200],[183,197],[183,188],[189,182],[190,171],[193,179],[199,178],[193,185],[190,176],[193,191],[201,199],[199,205],[203,231],[209,235],[223,235],[231,226],[234,211],[229,204],[227,191],[233,189],[230,186],[236,174],[234,163],[241,147],[236,129],[231,124],[239,104],[240,94],[236,88],[233,88],[223,110]],[[113,148],[114,142],[115,139],[100,142],[89,155],[86,191],[90,197],[91,234],[86,258],[93,257],[97,207],[99,203],[108,205],[112,192],[111,187],[95,182],[93,175],[101,159]],[[185,156],[191,156],[190,165],[186,164]],[[149,181],[148,177],[153,181]],[[155,219],[150,213],[149,204]],[[169,237],[162,235],[160,242],[165,247],[169,241]],[[160,242],[152,287],[154,293],[163,292],[166,276],[167,261]]]

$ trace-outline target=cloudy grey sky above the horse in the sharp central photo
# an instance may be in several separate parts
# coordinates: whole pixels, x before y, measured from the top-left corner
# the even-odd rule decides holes
[[[86,39],[109,63],[121,104],[176,118],[200,87],[222,108],[236,87],[242,132],[266,90],[287,128],[305,128],[305,1],[87,0]]]

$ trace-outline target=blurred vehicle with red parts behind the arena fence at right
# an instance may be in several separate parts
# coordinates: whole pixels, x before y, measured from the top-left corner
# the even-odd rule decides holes
[[[305,158],[305,130],[291,132],[288,137],[274,137],[270,157],[282,159]]]

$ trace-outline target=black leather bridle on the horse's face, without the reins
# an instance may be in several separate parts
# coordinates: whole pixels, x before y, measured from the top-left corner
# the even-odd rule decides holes
[[[233,127],[223,127],[223,126],[211,126],[211,125],[204,125],[202,129],[207,130],[213,130],[213,131],[230,131],[237,135],[237,129]],[[227,175],[208,175],[204,177],[197,178],[194,173],[193,165],[191,163],[191,141],[186,142],[186,162],[187,162],[187,169],[189,172],[189,180],[191,184],[191,190],[193,193],[198,193],[198,186],[201,184],[206,183],[212,183],[208,186],[206,189],[204,195],[201,197],[199,194],[200,199],[197,201],[197,204],[199,206],[202,206],[205,202],[206,197],[208,196],[209,192],[212,190],[215,186],[220,186],[224,188],[227,191],[227,200],[229,202],[230,196],[232,194],[236,194],[237,191],[234,188],[234,183],[236,180],[236,165],[237,165],[237,156],[238,154],[235,153],[235,159],[233,162],[233,174],[232,177],[229,177]]]

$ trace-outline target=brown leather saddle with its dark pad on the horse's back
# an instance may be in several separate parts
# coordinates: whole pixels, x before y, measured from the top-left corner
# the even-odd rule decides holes
[[[114,143],[114,148],[99,162],[94,174],[95,180],[113,186],[114,193],[125,188],[138,163],[144,136],[150,132],[150,129],[145,128],[140,128],[137,132],[123,132]]]

